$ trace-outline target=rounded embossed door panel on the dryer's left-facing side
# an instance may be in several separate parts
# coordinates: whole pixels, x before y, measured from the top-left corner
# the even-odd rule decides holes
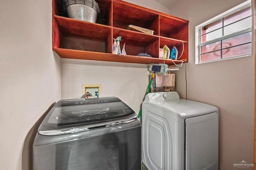
[[[168,121],[146,110],[142,126],[142,162],[150,170],[172,169],[172,139]]]

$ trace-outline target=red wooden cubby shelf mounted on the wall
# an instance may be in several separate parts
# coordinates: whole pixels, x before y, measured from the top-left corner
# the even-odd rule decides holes
[[[97,23],[68,18],[61,0],[53,0],[52,40],[53,50],[62,58],[122,63],[166,63],[159,59],[159,48],[176,46],[188,62],[188,21],[168,14],[150,10],[120,0],[96,0],[100,7]],[[154,31],[154,34],[141,33],[126,29],[136,25]],[[125,44],[126,56],[113,55],[113,38],[122,36],[120,46]],[[138,57],[148,53],[152,57]]]

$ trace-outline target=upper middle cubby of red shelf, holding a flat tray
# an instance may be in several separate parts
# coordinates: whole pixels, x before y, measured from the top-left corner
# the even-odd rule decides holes
[[[126,29],[128,25],[135,25],[158,33],[158,14],[140,9],[134,4],[122,1],[113,2],[113,27]]]

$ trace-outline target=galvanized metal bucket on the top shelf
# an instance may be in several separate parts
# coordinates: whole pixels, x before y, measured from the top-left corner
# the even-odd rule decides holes
[[[69,18],[92,23],[96,23],[100,12],[95,0],[63,0],[63,6]]]

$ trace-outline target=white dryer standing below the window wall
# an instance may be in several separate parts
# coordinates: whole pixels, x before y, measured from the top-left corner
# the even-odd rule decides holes
[[[218,170],[218,108],[156,92],[142,103],[142,162],[149,170]]]

